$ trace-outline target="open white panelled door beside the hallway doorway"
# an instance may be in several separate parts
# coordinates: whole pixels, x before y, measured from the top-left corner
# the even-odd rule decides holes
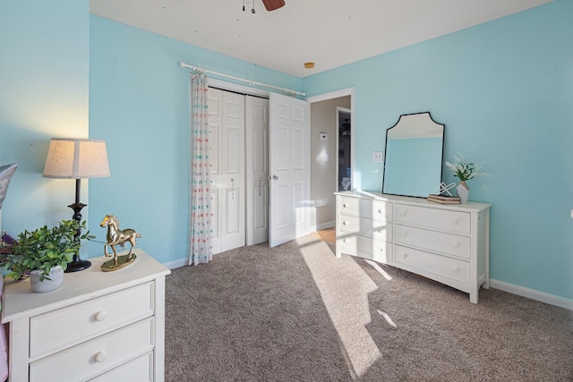
[[[269,246],[309,230],[310,131],[308,102],[270,93],[269,98]]]

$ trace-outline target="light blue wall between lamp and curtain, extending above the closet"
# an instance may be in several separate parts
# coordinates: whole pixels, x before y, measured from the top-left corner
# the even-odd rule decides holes
[[[105,241],[98,224],[114,214],[159,261],[185,259],[190,75],[179,62],[290,89],[303,81],[98,16],[90,21],[90,137],[107,140],[112,174],[90,182],[91,232]]]

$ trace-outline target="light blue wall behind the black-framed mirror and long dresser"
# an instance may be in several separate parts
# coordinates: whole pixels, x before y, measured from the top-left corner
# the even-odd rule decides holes
[[[309,95],[355,87],[357,188],[381,190],[398,115],[445,123],[446,159],[485,162],[491,276],[573,299],[573,2],[560,0],[304,79]],[[456,178],[443,169],[445,181]]]

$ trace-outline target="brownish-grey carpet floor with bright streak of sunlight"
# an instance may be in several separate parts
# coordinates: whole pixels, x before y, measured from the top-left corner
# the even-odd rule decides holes
[[[167,276],[167,381],[572,381],[573,314],[466,293],[311,234]]]

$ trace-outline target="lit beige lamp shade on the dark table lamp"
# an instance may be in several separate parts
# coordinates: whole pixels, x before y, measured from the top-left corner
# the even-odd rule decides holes
[[[52,138],[50,141],[44,177],[85,179],[109,175],[105,140]]]

